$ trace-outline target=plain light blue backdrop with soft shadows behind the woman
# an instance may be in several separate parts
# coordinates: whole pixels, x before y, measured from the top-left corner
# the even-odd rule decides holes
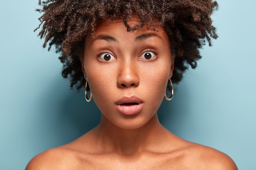
[[[24,169],[38,153],[95,126],[100,112],[69,90],[54,50],[33,30],[38,1],[0,5],[0,169]],[[171,102],[159,109],[176,135],[227,153],[240,170],[256,170],[256,1],[219,0],[218,40],[205,46]]]

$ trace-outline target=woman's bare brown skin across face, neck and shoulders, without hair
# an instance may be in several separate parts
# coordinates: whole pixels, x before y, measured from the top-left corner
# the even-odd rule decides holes
[[[137,23],[133,16],[131,25]],[[103,20],[96,28],[94,37],[85,38],[81,65],[101,122],[75,141],[37,155],[26,170],[237,170],[224,153],[185,141],[159,123],[157,109],[174,68],[164,28],[131,33],[120,19]],[[124,96],[141,100],[140,110],[132,108],[139,104],[119,109],[116,100]]]

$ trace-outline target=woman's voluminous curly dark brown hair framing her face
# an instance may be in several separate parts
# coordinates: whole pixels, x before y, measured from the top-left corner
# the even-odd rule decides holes
[[[166,30],[172,56],[175,57],[172,82],[178,83],[183,73],[197,66],[201,58],[199,49],[211,39],[216,39],[211,14],[218,9],[212,0],[47,0],[41,2],[43,15],[39,18],[40,38],[45,38],[43,47],[49,44],[61,53],[62,76],[70,78],[70,87],[79,90],[85,85],[81,70],[85,35],[95,31],[97,21],[122,18],[127,31],[134,31],[146,24],[153,29],[157,21]],[[127,20],[136,13],[140,24],[130,27]],[[154,24],[153,24],[154,23]]]

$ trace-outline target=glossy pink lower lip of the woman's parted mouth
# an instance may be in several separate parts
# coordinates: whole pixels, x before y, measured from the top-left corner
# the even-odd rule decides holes
[[[136,115],[142,109],[142,104],[134,105],[117,105],[117,110],[124,115]]]

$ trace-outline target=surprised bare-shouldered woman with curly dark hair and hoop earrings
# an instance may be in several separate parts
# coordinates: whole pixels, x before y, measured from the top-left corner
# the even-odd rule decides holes
[[[157,119],[172,82],[195,68],[205,39],[217,38],[216,8],[211,0],[43,2],[44,47],[56,46],[63,77],[85,86],[102,115],[97,127],[37,155],[26,170],[236,170],[224,153],[180,139]]]

